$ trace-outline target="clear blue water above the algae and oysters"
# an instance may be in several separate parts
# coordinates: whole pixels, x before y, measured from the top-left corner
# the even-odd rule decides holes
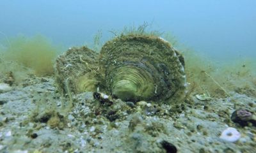
[[[256,57],[256,1],[0,1],[0,31],[8,38],[42,34],[64,48],[93,43],[108,31],[148,22],[173,34],[180,47],[215,59]],[[1,42],[5,41],[0,34]]]

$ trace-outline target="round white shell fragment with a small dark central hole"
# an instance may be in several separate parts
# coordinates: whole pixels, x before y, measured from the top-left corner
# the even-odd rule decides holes
[[[241,137],[239,131],[236,128],[227,128],[222,133],[220,138],[227,142],[236,142]]]

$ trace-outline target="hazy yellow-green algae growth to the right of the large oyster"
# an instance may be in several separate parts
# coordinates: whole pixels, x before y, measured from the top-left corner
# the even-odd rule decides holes
[[[224,98],[230,92],[255,95],[256,65],[253,59],[214,61],[191,49],[183,50],[190,94],[207,94]],[[253,93],[254,92],[254,93]]]

